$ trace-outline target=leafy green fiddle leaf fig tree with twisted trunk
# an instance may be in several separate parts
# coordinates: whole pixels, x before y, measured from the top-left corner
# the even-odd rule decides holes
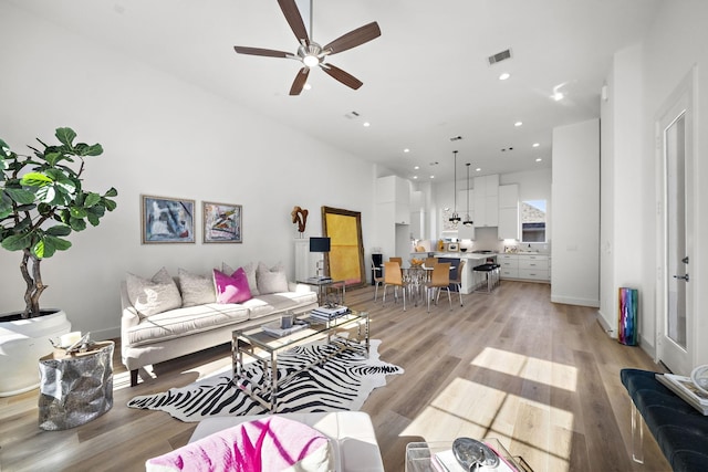
[[[23,318],[40,315],[42,260],[71,248],[72,231],[83,231],[86,222],[98,225],[106,210],[113,211],[115,188],[100,195],[84,190],[85,159],[100,156],[100,144],[75,143],[76,133],[58,128],[59,144],[28,146],[33,153],[20,155],[0,139],[0,244],[21,251],[20,272],[27,284]]]

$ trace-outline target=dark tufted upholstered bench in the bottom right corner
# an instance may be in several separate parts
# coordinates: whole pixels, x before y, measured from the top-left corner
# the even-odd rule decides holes
[[[708,417],[659,384],[655,374],[638,369],[620,373],[634,402],[632,444],[635,461],[641,462],[643,457],[638,411],[675,472],[708,471]]]

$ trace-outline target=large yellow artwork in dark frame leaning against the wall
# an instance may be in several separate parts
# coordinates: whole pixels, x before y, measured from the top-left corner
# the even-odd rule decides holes
[[[327,274],[350,286],[366,285],[362,213],[322,207],[322,232],[330,238],[330,252],[324,254]]]

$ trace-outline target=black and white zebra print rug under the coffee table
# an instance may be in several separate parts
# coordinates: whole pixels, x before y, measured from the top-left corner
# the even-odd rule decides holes
[[[327,361],[294,375],[279,388],[278,412],[317,412],[358,410],[368,395],[386,385],[386,376],[403,374],[403,368],[378,358],[381,339],[372,339],[368,358],[364,349],[345,350]],[[296,347],[278,356],[278,377],[283,378],[311,359],[333,352],[327,344]],[[254,380],[262,378],[250,365]],[[231,382],[231,369],[181,388],[138,396],[128,401],[131,408],[162,410],[185,421],[209,417],[260,415],[268,412]]]

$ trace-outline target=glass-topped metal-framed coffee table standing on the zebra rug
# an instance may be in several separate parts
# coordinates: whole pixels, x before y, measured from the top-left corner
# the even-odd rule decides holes
[[[236,329],[232,333],[233,384],[273,413],[278,411],[279,387],[299,373],[346,349],[364,349],[368,356],[368,312],[350,310],[332,319],[322,319],[308,313],[296,317],[295,326],[301,323],[306,323],[306,326],[281,337],[269,334],[262,326]],[[346,332],[346,336],[342,335],[343,332]],[[304,363],[296,371],[278,377],[279,355],[316,340],[326,342],[335,349],[329,349],[326,355]]]

